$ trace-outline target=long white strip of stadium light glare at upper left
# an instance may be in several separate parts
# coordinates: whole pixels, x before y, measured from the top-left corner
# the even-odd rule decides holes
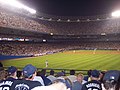
[[[22,3],[18,2],[17,0],[0,0],[0,2],[1,3],[5,3],[7,5],[11,5],[11,6],[17,7],[17,8],[23,8],[23,9],[29,11],[32,14],[36,13],[36,10],[23,5]]]

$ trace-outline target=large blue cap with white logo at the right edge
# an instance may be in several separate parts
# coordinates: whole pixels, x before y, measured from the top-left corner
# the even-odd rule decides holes
[[[104,81],[111,81],[111,80],[118,81],[119,77],[120,77],[120,71],[110,70],[105,73],[103,80]]]

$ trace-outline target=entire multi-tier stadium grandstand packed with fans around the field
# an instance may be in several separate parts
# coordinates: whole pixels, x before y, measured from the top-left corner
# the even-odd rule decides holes
[[[17,11],[0,6],[0,55],[120,49],[120,19],[109,14],[67,17]]]

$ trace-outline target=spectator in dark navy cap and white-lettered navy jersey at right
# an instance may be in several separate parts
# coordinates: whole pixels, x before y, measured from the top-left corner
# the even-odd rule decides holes
[[[100,72],[98,70],[92,70],[90,76],[91,81],[83,84],[81,90],[102,90],[101,83],[99,82],[99,75]]]

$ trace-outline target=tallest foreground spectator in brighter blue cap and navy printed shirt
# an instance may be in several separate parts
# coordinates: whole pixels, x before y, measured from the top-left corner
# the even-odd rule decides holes
[[[15,80],[11,86],[11,90],[31,90],[34,87],[42,86],[40,82],[33,81],[36,76],[36,67],[31,64],[26,65],[23,68],[23,79]]]

